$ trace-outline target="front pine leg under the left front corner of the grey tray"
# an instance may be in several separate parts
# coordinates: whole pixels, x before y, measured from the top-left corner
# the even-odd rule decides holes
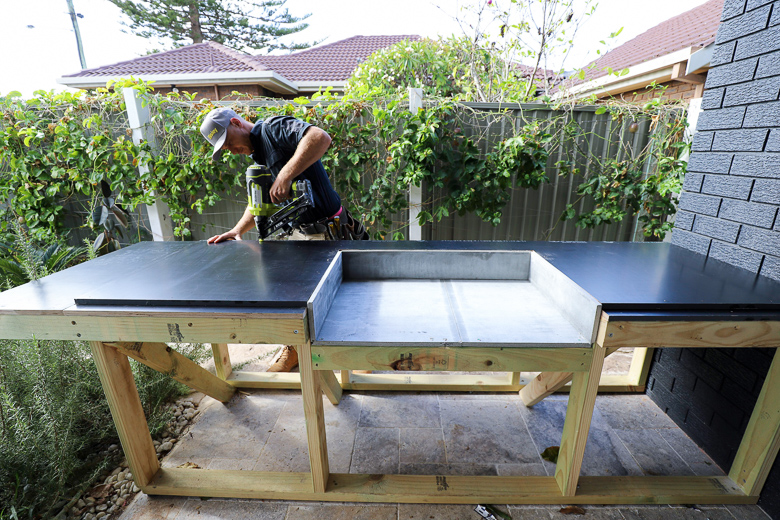
[[[311,363],[311,343],[298,346],[298,367],[301,371],[303,413],[306,417],[306,437],[309,443],[309,463],[315,493],[324,493],[330,476],[328,445],[325,439],[325,410],[322,407],[320,378]]]

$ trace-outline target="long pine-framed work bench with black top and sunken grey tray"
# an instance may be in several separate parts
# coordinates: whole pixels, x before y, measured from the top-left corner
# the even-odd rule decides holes
[[[727,476],[580,477],[596,394],[642,391],[651,349],[780,347],[780,283],[669,244],[145,242],[1,293],[0,337],[91,342],[148,494],[755,503],[780,441],[775,360]],[[169,345],[185,342],[212,345],[216,376]],[[231,372],[227,345],[257,343],[296,346],[300,374]],[[602,377],[622,347],[628,374]],[[160,468],[128,357],[223,402],[236,388],[300,389],[311,471]],[[519,391],[528,406],[567,389],[555,475],[331,473],[322,393],[337,404],[389,389]]]

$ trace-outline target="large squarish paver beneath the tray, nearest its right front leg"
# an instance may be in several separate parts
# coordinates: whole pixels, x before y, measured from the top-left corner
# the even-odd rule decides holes
[[[441,422],[448,462],[540,462],[539,451],[515,403],[441,401]]]

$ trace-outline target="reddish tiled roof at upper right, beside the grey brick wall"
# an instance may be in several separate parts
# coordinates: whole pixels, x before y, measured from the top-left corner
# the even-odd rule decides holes
[[[656,25],[591,62],[594,67],[586,70],[585,81],[605,76],[607,67],[617,72],[680,49],[709,45],[715,41],[722,10],[723,0],[709,0]]]

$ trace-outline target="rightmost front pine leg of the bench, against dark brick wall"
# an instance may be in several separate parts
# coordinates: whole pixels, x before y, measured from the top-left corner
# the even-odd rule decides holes
[[[758,496],[780,447],[780,356],[775,357],[758,395],[729,477],[746,495]]]

